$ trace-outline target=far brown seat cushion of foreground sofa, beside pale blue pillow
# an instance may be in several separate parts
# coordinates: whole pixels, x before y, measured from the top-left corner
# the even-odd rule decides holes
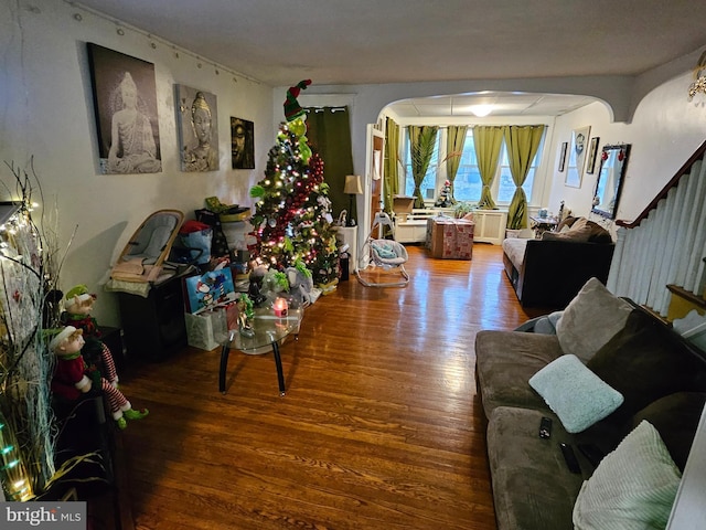
[[[527,381],[561,353],[554,335],[479,331],[475,336],[475,377],[485,416],[490,418],[500,405],[548,411]]]

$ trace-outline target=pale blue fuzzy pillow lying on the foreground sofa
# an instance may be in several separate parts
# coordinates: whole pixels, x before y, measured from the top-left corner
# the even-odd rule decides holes
[[[532,378],[537,391],[568,433],[580,433],[618,409],[623,398],[591,372],[578,357],[555,359]]]

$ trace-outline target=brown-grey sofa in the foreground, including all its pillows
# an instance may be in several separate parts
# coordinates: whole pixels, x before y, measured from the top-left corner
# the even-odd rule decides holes
[[[523,329],[475,339],[498,528],[664,528],[706,401],[704,353],[596,278]]]

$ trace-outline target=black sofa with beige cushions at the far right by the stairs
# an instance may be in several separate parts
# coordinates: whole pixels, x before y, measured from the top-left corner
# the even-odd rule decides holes
[[[541,240],[503,240],[503,265],[523,307],[564,308],[591,277],[606,283],[614,244],[586,218],[567,218]]]

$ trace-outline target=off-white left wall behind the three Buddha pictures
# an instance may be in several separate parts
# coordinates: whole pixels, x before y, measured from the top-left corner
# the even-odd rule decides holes
[[[235,76],[235,82],[225,68],[135,29],[124,28],[121,36],[116,23],[66,2],[35,0],[34,8],[28,6],[0,3],[0,159],[31,172],[33,157],[44,195],[42,208],[56,214],[63,248],[75,230],[60,287],[67,290],[87,284],[99,294],[96,318],[115,326],[119,324],[116,297],[98,283],[150,213],[178,209],[193,219],[193,211],[212,195],[228,204],[250,204],[248,190],[260,179],[275,142],[272,89],[242,76]],[[99,172],[86,42],[154,64],[162,172]],[[180,170],[174,84],[216,95],[218,171]],[[255,123],[256,170],[229,169],[231,116]],[[0,179],[14,191],[4,165]],[[0,190],[2,200],[10,195]],[[34,219],[39,218],[40,212]]]

